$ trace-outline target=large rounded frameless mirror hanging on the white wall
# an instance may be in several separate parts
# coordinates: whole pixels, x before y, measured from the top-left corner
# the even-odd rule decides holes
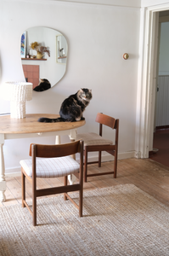
[[[23,44],[20,44],[20,56],[25,80],[33,84],[35,91],[48,90],[65,75],[68,53],[66,39],[59,31],[42,26],[31,27],[23,34],[25,55]]]

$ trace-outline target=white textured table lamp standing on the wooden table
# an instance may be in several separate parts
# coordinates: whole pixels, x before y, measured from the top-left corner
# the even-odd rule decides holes
[[[32,99],[32,85],[25,82],[4,83],[3,98],[10,101],[11,118],[25,118],[25,102]]]

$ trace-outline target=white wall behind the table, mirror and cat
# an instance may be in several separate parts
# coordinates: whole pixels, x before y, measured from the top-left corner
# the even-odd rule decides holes
[[[80,88],[92,89],[93,99],[84,113],[86,125],[79,131],[98,131],[94,121],[98,112],[119,118],[119,154],[129,157],[135,150],[139,19],[140,9],[133,6],[1,0],[0,86],[4,81],[24,79],[20,61],[22,32],[31,26],[48,26],[62,32],[69,47],[65,77],[50,90],[40,94],[33,91],[27,113],[59,113],[65,97]],[[125,52],[130,55],[127,61],[122,59]],[[1,100],[0,113],[8,111],[9,102]],[[110,134],[106,130],[106,137]],[[62,142],[67,140],[62,137]],[[54,143],[54,137],[33,141]],[[20,159],[27,158],[31,142],[5,141],[7,172],[18,168]]]

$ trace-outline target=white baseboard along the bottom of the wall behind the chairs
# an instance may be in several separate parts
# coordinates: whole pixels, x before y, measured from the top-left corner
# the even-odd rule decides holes
[[[128,158],[136,158],[136,152],[135,151],[129,151],[129,152],[124,152],[124,153],[119,153],[118,154],[118,160],[123,160],[123,159],[128,159]],[[137,157],[138,158],[138,157]],[[76,159],[77,161],[79,160],[78,158]],[[89,156],[88,161],[97,161],[98,156]],[[102,162],[109,162],[113,161],[114,157],[110,154],[104,154],[102,155]],[[20,172],[20,166],[14,167],[14,168],[7,168],[5,170],[5,177],[19,177],[21,175]]]

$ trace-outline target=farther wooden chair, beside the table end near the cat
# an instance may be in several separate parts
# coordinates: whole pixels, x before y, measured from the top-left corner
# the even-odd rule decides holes
[[[87,182],[87,177],[107,175],[114,173],[116,177],[117,172],[117,152],[118,152],[118,134],[119,134],[119,119],[114,119],[103,113],[98,113],[96,122],[99,123],[99,134],[89,132],[83,134],[77,134],[76,139],[82,139],[84,141],[84,181]],[[103,125],[109,126],[111,129],[115,129],[115,143],[112,140],[104,139],[102,137]],[[99,151],[99,161],[87,162],[88,152]],[[109,154],[114,155],[114,170],[111,172],[98,172],[93,174],[87,174],[87,164],[99,163],[101,167],[101,152],[106,151]]]

